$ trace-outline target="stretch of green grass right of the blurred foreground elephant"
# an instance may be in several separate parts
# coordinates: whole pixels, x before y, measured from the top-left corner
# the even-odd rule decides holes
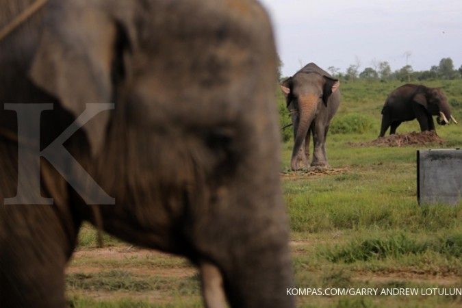
[[[462,118],[462,80],[430,81],[444,89],[452,113]],[[342,84],[342,103],[329,133],[327,154],[340,175],[283,177],[283,192],[293,240],[309,239],[296,248],[294,271],[298,286],[358,286],[352,276],[396,273],[401,285],[415,285],[409,273],[426,277],[462,277],[462,205],[421,207],[416,193],[416,151],[400,148],[354,147],[378,136],[381,108],[399,82],[356,81]],[[284,102],[279,99],[279,105]],[[281,115],[284,118],[286,115]],[[359,119],[367,122],[357,125]],[[368,120],[365,120],[368,119]],[[282,121],[281,121],[282,122]],[[419,131],[417,121],[403,123],[398,133]],[[287,133],[287,132],[286,132]],[[292,133],[292,131],[291,131]],[[462,145],[461,126],[437,126],[442,147]],[[432,146],[429,146],[430,148]],[[441,147],[441,146],[438,146]],[[283,144],[282,170],[290,167],[292,141]],[[294,249],[293,249],[294,250]],[[340,273],[340,274],[339,274]],[[374,283],[372,283],[374,285]],[[376,284],[375,284],[376,285]],[[380,285],[380,284],[379,284]],[[456,283],[462,285],[462,279]],[[302,307],[457,307],[461,298],[298,298]]]

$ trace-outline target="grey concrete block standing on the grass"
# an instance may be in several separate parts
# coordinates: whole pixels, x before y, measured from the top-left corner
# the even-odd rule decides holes
[[[457,205],[462,201],[462,150],[417,152],[417,195],[422,204]]]

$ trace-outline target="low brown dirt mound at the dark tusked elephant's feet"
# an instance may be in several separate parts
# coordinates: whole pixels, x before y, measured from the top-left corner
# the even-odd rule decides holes
[[[413,131],[412,133],[398,133],[380,137],[370,142],[348,142],[350,146],[411,146],[425,144],[444,144],[444,140],[439,138],[435,131],[422,131],[422,133]]]

